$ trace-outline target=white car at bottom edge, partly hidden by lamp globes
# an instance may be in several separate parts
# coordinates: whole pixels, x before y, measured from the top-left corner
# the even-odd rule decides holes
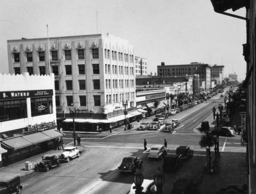
[[[144,179],[141,187],[143,188],[141,193],[148,193],[148,194],[157,193],[157,187],[155,185],[154,180]],[[136,185],[135,183],[133,183],[129,194],[135,194],[135,193],[136,193]]]

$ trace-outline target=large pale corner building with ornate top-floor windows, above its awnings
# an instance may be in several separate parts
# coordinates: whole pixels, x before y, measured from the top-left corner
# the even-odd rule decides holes
[[[134,46],[125,39],[94,34],[7,44],[10,74],[54,73],[57,113],[76,108],[100,116],[105,105],[134,105]]]

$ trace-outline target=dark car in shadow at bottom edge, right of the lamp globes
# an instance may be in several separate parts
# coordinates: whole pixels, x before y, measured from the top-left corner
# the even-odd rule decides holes
[[[175,181],[171,194],[193,194],[197,193],[197,183],[191,179],[179,178]]]

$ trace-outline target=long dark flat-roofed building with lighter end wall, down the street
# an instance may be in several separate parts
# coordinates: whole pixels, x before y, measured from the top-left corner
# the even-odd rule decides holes
[[[202,89],[209,89],[211,87],[211,65],[205,63],[192,62],[190,64],[182,65],[161,65],[157,66],[157,74],[160,77],[174,76],[185,77],[199,75],[199,84]]]

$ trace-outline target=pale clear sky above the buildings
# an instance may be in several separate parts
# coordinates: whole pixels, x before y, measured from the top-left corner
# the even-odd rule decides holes
[[[229,13],[245,17],[245,8]],[[224,65],[224,77],[246,77],[246,22],[214,12],[210,0],[1,0],[0,73],[8,73],[7,40],[111,34],[135,56],[157,65]]]

